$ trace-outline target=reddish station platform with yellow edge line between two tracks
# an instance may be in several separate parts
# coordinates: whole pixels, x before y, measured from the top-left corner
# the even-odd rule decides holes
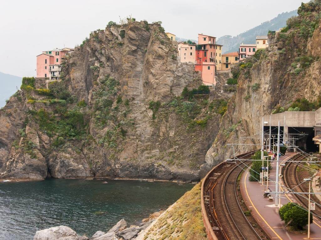
[[[291,157],[295,153],[288,153],[285,157],[281,157],[282,162],[286,158]],[[269,188],[273,192],[275,190],[275,177],[276,177],[276,165],[272,163],[272,170],[269,174]],[[275,207],[275,199],[269,200],[264,198],[266,186],[261,186],[259,182],[250,182],[248,180],[249,172],[245,171],[240,179],[240,191],[247,208],[251,210],[252,216],[256,219],[261,228],[270,237],[270,239],[280,240],[301,240],[307,239],[307,234],[296,234],[289,232],[285,229],[284,222],[280,219],[279,208]],[[291,195],[281,196],[281,205],[287,204],[290,201],[295,202],[295,199]],[[311,224],[310,239],[321,239],[321,222],[313,219]]]

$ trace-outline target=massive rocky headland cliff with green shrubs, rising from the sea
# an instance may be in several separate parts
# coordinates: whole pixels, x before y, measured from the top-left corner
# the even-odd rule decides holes
[[[109,24],[62,69],[49,92],[23,80],[1,110],[1,178],[199,179],[221,105],[181,96],[202,82],[160,24]]]

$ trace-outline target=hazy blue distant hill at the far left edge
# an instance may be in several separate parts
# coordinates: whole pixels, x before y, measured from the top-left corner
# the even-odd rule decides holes
[[[17,87],[20,88],[21,81],[22,77],[0,72],[0,108],[5,105],[5,100],[17,91]]]

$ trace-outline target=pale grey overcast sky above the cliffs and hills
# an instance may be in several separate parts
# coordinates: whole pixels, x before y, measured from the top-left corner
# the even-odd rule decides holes
[[[36,55],[81,44],[89,33],[132,15],[136,20],[162,21],[166,32],[197,39],[197,33],[235,36],[302,0],[9,0],[0,8],[0,72],[35,76]],[[308,0],[303,0],[308,2]]]

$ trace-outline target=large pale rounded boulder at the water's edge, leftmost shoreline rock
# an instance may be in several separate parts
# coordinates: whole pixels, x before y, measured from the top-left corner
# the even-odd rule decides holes
[[[46,228],[40,231],[37,231],[33,240],[80,240],[76,232],[67,227],[59,226]]]

